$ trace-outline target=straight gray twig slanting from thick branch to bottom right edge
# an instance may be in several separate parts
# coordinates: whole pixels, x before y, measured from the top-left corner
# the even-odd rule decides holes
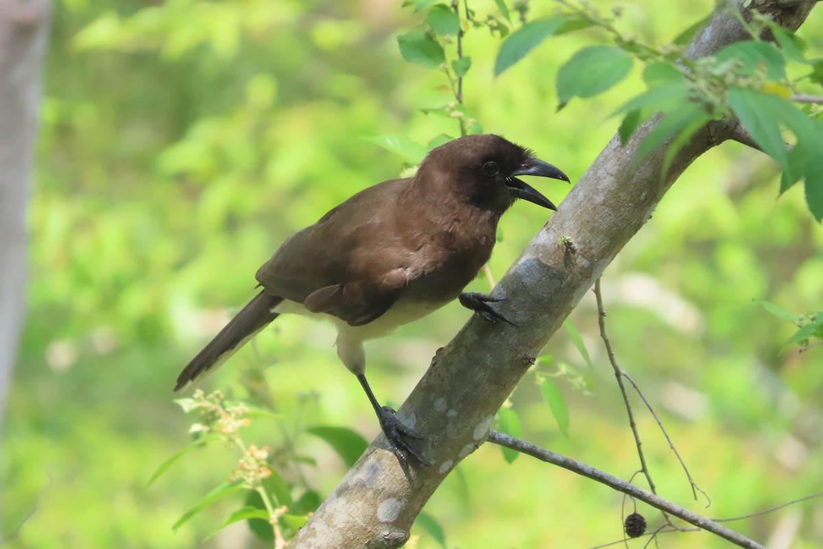
[[[702,528],[707,532],[723,537],[723,539],[728,540],[739,547],[765,549],[765,547],[760,545],[760,543],[755,542],[754,540],[751,540],[730,528],[726,528],[722,524],[718,524],[711,519],[707,519],[700,514],[690,511],[689,509],[676,505],[669,500],[664,500],[659,495],[645,491],[634,484],[622,481],[617,477],[611,476],[607,472],[602,472],[599,469],[586,465],[585,463],[580,463],[574,459],[566,458],[565,456],[556,454],[551,450],[542,449],[539,446],[535,446],[534,444],[530,444],[524,440],[515,439],[513,436],[500,433],[500,431],[496,430],[489,431],[489,438],[487,440],[493,444],[500,444],[500,446],[505,446],[506,448],[516,450],[521,454],[528,454],[532,456],[532,458],[537,458],[546,463],[551,463],[552,465],[575,472],[583,477],[591,478],[593,481],[600,482],[616,491],[631,495],[632,497],[640,501],[644,501],[656,509],[672,514],[679,519],[685,520],[687,523],[695,525],[698,528]]]

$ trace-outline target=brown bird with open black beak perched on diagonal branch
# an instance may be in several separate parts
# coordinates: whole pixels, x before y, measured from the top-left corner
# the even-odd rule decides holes
[[[423,437],[379,404],[365,377],[363,343],[458,299],[488,322],[512,323],[505,297],[463,289],[491,257],[500,216],[523,199],[556,206],[518,176],[569,182],[554,165],[494,134],[432,149],[412,177],[365,188],[291,235],[263,266],[260,291],[186,365],[175,391],[216,370],[281,314],[332,321],[337,356],[360,382],[398,459],[431,465]]]

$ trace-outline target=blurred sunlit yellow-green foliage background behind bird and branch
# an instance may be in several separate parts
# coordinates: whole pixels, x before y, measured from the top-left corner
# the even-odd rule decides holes
[[[622,5],[622,28],[658,44],[713,7],[594,3]],[[259,547],[244,523],[202,542],[240,497],[170,528],[228,477],[236,459],[229,449],[188,454],[148,490],[143,485],[190,440],[193,418],[173,402],[174,379],[253,295],[258,266],[330,207],[400,173],[402,158],[365,137],[402,133],[425,144],[457,136],[454,120],[421,112],[450,96],[442,74],[402,60],[396,36],[421,15],[400,4],[55,2],[29,214],[29,310],[2,430],[7,547]],[[472,7],[481,17],[496,9]],[[531,7],[533,17],[552,4]],[[821,28],[817,9],[798,34],[819,50]],[[552,39],[495,79],[500,40],[472,30],[464,44],[473,62],[466,105],[486,133],[531,147],[579,179],[616,131],[607,115],[643,87],[635,67],[609,93],[555,112],[557,68],[602,40],[597,33]],[[555,202],[568,191],[539,183]],[[756,151],[728,143],[709,152],[603,279],[618,360],[712,505],[689,503],[677,460],[637,402],[658,490],[713,517],[823,490],[823,349],[781,352],[793,326],[752,302],[797,313],[823,303],[823,230],[802,188],[776,199],[778,184],[778,167]],[[545,221],[546,212],[528,203],[504,216],[495,277]],[[474,285],[488,289],[484,279]],[[575,375],[556,379],[570,407],[570,436],[560,434],[533,375],[511,401],[526,440],[629,478],[635,446],[595,313],[588,295],[572,315],[593,372],[565,333],[546,348],[554,365],[543,371],[561,364],[593,382],[583,391]],[[451,304],[370,343],[378,397],[402,402],[467,318]],[[255,421],[244,437],[277,453],[283,430],[301,433],[296,451],[316,464],[280,472],[321,496],[345,467],[302,429],[349,426],[369,440],[378,429],[333,340],[322,324],[277,322],[202,384],[246,398],[249,386],[267,381],[283,419]],[[447,547],[593,547],[621,538],[621,500],[531,458],[508,465],[486,445],[425,511],[444,528]],[[659,523],[653,510],[639,509]],[[731,526],[770,547],[821,547],[823,501]],[[416,547],[439,547],[423,528],[412,533],[420,535]],[[667,534],[661,545],[727,547],[704,533]]]

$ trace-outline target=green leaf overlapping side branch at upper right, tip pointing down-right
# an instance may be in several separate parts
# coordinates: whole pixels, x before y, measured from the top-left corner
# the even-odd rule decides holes
[[[732,88],[728,91],[727,100],[751,138],[785,170],[786,143],[780,134],[779,112],[775,111],[770,97],[756,91]]]

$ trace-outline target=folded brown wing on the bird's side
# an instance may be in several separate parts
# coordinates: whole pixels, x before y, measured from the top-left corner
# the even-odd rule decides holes
[[[407,284],[414,253],[393,229],[405,181],[367,188],[286,240],[257,272],[266,293],[352,326],[384,314]]]

